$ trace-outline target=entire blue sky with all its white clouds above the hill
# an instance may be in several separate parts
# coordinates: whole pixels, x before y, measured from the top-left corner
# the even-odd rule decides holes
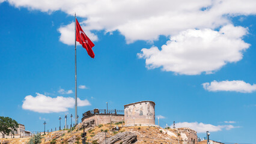
[[[106,109],[106,102],[109,109],[123,109],[151,100],[162,127],[175,121],[200,137],[209,130],[213,140],[254,143],[255,6],[0,1],[0,115],[29,131],[43,131],[44,121],[50,130],[59,116],[64,124],[65,114],[75,115],[76,11],[96,55],[92,59],[78,46],[80,118],[87,110]]]

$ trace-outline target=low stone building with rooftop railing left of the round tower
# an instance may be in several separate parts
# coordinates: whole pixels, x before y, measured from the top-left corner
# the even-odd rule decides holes
[[[124,110],[94,109],[83,113],[83,125],[115,124],[124,121]]]

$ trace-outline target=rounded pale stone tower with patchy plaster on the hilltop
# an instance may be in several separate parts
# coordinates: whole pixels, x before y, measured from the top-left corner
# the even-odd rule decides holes
[[[124,105],[125,126],[155,125],[154,101],[139,101]]]

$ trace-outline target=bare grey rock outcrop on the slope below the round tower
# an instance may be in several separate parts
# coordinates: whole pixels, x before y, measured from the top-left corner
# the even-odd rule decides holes
[[[123,144],[135,143],[137,141],[137,135],[130,131],[115,134],[115,136],[109,137],[106,143],[114,144],[115,142],[123,142]]]

